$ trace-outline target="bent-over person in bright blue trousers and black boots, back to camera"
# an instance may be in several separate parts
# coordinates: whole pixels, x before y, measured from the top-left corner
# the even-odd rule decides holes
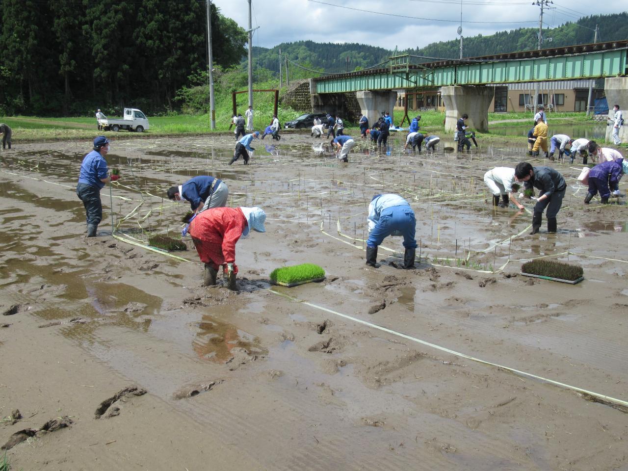
[[[366,241],[366,264],[378,268],[377,247],[392,235],[403,236],[403,268],[414,268],[416,253],[416,219],[414,211],[399,195],[375,195],[369,204],[369,239]]]

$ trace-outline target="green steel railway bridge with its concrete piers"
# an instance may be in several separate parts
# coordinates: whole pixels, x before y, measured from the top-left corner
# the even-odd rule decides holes
[[[325,109],[334,94],[355,92],[369,121],[379,110],[393,109],[397,90],[441,87],[445,129],[467,113],[470,126],[488,130],[490,85],[578,78],[604,78],[609,104],[628,109],[628,40],[521,51],[460,60],[411,63],[411,55],[394,55],[386,68],[337,73],[310,80],[314,109]],[[318,111],[318,110],[316,110]],[[628,114],[624,112],[624,114]],[[628,132],[627,129],[624,131]]]

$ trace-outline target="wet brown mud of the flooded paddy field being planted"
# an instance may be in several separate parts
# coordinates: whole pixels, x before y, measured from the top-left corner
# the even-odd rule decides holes
[[[407,154],[402,137],[384,153],[360,140],[345,164],[291,134],[254,143],[248,166],[227,165],[229,136],[114,140],[122,176],[101,192],[93,239],[74,190],[89,143],[1,153],[0,443],[13,467],[628,469],[625,409],[430,345],[628,400],[627,183],[584,205],[582,166],[555,163],[568,183],[558,233],[528,236],[531,214],[490,207],[482,181],[526,160],[524,139]],[[201,286],[189,240],[183,260],[142,246],[179,234],[189,206],[165,192],[195,175],[268,215],[237,244],[238,291],[222,274]],[[379,269],[364,264],[367,207],[385,192],[416,213],[415,269],[401,268],[401,237]],[[541,256],[582,264],[585,281],[517,276]],[[271,285],[300,263],[327,278]],[[58,423],[38,428],[46,418]]]

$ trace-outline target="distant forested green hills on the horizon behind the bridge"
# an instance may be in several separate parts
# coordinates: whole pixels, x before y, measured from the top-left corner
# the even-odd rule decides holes
[[[587,44],[593,42],[595,25],[600,28],[600,41],[628,39],[628,13],[586,16],[575,23],[565,23],[558,28],[543,31],[543,47]],[[538,28],[519,28],[511,31],[499,31],[490,36],[473,36],[463,38],[463,54],[465,57],[491,55],[512,51],[536,49],[538,46]],[[455,28],[452,29],[451,41],[431,43],[423,48],[415,48],[407,52],[427,57],[458,58],[460,57],[460,40],[455,39]],[[283,43],[274,48],[254,48],[256,64],[274,72],[279,71],[279,48],[282,56],[304,67],[323,72],[345,72],[371,67],[386,60],[391,51],[376,46],[345,43],[315,43],[313,41],[297,41]],[[349,58],[349,62],[347,62]],[[416,59],[416,62],[425,62]]]

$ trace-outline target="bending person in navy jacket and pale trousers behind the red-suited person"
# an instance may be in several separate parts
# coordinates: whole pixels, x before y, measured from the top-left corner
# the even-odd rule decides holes
[[[229,188],[224,181],[213,176],[195,176],[183,185],[168,188],[168,199],[190,202],[194,214],[209,208],[225,207],[227,197],[229,197]]]

